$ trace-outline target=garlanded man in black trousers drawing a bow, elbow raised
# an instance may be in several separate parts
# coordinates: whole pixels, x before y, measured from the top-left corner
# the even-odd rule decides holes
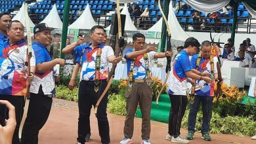
[[[93,26],[90,37],[91,43],[75,46],[75,48],[69,46],[63,49],[64,54],[74,52],[75,56],[81,58],[77,144],[84,144],[85,136],[89,133],[87,131],[90,126],[91,107],[96,105],[96,101],[107,86],[109,63],[118,63],[121,60],[121,57],[114,56],[114,51],[110,46],[104,46],[104,43],[102,43],[104,40],[103,27]],[[110,143],[110,128],[106,113],[107,102],[108,94],[98,105],[96,115],[102,144]]]

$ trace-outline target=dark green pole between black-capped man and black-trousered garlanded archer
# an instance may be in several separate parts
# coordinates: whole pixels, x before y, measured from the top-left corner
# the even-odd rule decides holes
[[[60,58],[65,57],[65,55],[62,52],[62,49],[66,46],[66,39],[68,34],[68,21],[70,17],[70,1],[65,0],[64,3],[64,12],[63,12],[63,26],[62,26],[62,39],[61,39],[61,53]]]

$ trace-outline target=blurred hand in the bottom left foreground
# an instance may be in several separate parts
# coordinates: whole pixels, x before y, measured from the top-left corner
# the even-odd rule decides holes
[[[6,126],[0,124],[0,143],[12,143],[12,136],[16,127],[15,107],[9,101],[0,100],[0,103],[5,104],[9,109],[9,119],[6,120]]]

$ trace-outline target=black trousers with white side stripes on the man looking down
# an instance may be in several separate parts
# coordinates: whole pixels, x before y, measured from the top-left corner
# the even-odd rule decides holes
[[[171,109],[169,114],[169,135],[178,137],[181,135],[181,121],[186,111],[188,98],[182,95],[169,94]]]

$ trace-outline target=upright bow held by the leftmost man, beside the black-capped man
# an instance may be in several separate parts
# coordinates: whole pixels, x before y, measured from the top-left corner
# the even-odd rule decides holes
[[[28,17],[28,3],[26,3],[26,2],[25,2],[25,5],[24,5],[24,9],[25,9],[25,24],[26,24],[27,39],[28,39],[28,50],[27,50],[25,65],[27,67],[27,75],[30,76],[30,59],[32,58],[32,39],[31,39],[30,21],[29,21],[29,17]],[[27,81],[24,113],[23,113],[23,116],[22,116],[22,120],[20,122],[20,128],[18,130],[18,137],[19,137],[20,141],[21,141],[22,129],[23,129],[23,126],[24,126],[24,122],[25,122],[27,114],[28,114],[29,104],[30,104],[30,83]]]

